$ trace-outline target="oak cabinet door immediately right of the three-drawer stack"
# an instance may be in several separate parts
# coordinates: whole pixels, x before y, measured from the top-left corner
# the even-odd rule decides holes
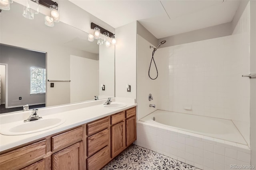
[[[111,127],[111,158],[120,154],[125,148],[125,122]]]

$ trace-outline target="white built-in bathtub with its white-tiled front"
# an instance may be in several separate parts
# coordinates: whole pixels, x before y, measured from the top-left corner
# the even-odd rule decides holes
[[[250,164],[250,148],[231,120],[156,110],[136,128],[135,144],[202,170]]]

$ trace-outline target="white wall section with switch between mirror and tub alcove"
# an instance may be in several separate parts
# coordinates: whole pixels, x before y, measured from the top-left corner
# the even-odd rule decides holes
[[[136,22],[116,28],[116,35],[118,35],[115,53],[116,97],[136,99]],[[131,85],[131,92],[127,92],[127,84]]]

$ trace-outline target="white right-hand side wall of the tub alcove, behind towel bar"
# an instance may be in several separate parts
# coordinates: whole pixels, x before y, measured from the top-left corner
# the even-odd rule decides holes
[[[238,74],[249,74],[250,3],[247,4],[244,12],[242,12],[242,16],[238,20],[232,35],[235,38],[233,43],[234,52],[236,52],[232,58],[237,59],[237,61],[232,65],[234,72]],[[255,46],[251,46],[251,48],[255,48]],[[250,143],[250,79],[246,77],[240,79],[240,81],[238,81],[238,79],[233,80],[233,88],[236,89],[236,94],[239,98],[235,99],[237,102],[233,103],[235,110],[231,119],[246,141]]]

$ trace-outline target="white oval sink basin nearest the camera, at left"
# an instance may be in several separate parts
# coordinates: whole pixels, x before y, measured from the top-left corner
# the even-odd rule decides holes
[[[42,118],[31,122],[12,122],[2,124],[0,133],[4,135],[22,135],[48,130],[63,124],[66,120],[61,118]]]

